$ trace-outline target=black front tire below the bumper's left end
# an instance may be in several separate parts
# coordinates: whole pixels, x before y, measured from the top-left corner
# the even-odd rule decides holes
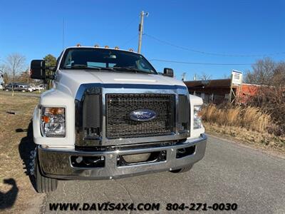
[[[58,187],[58,180],[54,178],[46,178],[41,175],[41,170],[38,165],[38,158],[35,160],[35,178],[36,178],[36,191],[38,193],[50,193],[55,191]]]

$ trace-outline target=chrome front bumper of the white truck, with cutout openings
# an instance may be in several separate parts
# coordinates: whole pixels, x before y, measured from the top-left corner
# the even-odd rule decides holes
[[[154,173],[166,170],[175,170],[191,165],[204,157],[207,136],[192,138],[175,146],[159,146],[132,148],[115,151],[66,151],[60,149],[43,148],[38,146],[38,160],[43,175],[49,178],[64,180],[76,179],[112,179],[123,178],[145,173]],[[183,158],[177,158],[177,149],[195,146],[195,152]],[[150,153],[166,151],[165,161],[157,163],[138,163],[135,165],[118,166],[117,158],[120,155]],[[71,156],[104,156],[105,166],[102,168],[78,168],[71,164]]]

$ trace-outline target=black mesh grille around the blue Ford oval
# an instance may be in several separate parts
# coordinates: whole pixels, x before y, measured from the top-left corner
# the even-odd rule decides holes
[[[175,95],[125,93],[106,94],[106,137],[138,138],[169,135],[174,130]],[[150,109],[157,114],[150,121],[133,121],[130,113]]]

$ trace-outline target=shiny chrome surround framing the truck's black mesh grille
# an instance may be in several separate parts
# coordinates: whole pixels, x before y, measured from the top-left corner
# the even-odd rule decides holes
[[[186,86],[169,86],[169,85],[145,85],[145,84],[113,84],[113,83],[86,83],[81,84],[78,88],[76,94],[76,103],[83,101],[85,91],[100,91],[102,97],[102,136],[100,136],[100,141],[86,141],[82,142],[80,136],[80,130],[76,131],[76,145],[86,145],[86,146],[116,146],[116,145],[127,145],[135,143],[150,143],[150,142],[159,142],[159,141],[176,141],[180,139],[185,139],[190,137],[190,130],[180,133],[178,130],[178,96],[185,95],[188,98],[189,102],[189,93]],[[106,94],[172,94],[175,99],[175,116],[174,116],[174,128],[172,133],[163,135],[163,136],[145,136],[145,137],[136,137],[136,138],[108,138],[106,136]],[[78,106],[78,105],[76,105]],[[76,111],[78,112],[78,111]],[[81,115],[79,115],[80,117]],[[81,116],[82,117],[82,116]],[[78,128],[76,127],[76,130]],[[77,142],[78,141],[78,142]],[[81,143],[80,143],[81,142]]]

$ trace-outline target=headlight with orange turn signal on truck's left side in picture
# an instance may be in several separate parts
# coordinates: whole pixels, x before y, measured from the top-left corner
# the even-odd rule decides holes
[[[44,137],[66,136],[66,109],[41,107],[41,134]]]

